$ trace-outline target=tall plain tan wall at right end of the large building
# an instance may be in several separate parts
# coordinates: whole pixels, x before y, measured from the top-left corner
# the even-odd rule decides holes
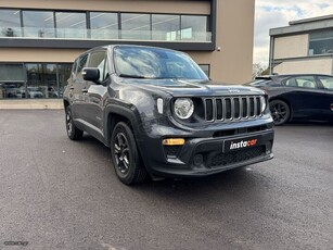
[[[252,79],[255,0],[218,0],[217,47],[212,78],[242,84]]]

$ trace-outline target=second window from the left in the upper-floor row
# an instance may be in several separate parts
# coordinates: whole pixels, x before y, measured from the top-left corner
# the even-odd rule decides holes
[[[54,37],[52,11],[22,11],[24,37]]]

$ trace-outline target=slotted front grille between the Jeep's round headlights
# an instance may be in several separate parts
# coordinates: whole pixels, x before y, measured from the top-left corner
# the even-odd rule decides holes
[[[261,116],[259,96],[204,98],[205,120],[225,122]]]

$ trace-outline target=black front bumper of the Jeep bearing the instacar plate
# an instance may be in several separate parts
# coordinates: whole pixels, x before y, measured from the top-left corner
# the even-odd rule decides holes
[[[177,136],[174,136],[177,137]],[[145,138],[140,145],[148,172],[158,177],[206,176],[273,158],[273,130],[223,137],[185,138],[184,146],[166,148],[163,138]],[[255,145],[244,146],[247,141]],[[244,146],[244,147],[243,147]],[[175,147],[175,146],[168,146]]]

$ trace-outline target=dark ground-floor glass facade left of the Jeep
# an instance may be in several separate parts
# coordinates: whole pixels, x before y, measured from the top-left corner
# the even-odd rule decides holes
[[[72,64],[0,64],[0,99],[62,98]]]

